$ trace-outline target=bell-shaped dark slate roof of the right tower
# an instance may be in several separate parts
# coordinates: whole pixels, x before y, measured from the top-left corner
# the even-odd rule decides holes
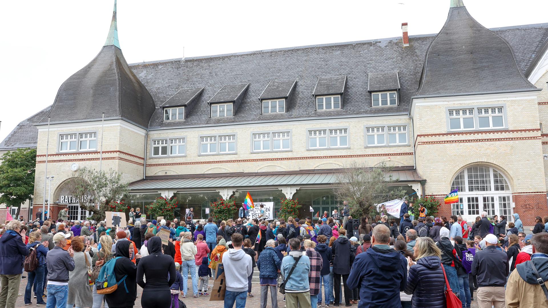
[[[502,93],[536,89],[522,74],[510,45],[470,16],[450,8],[432,41],[415,96]]]

